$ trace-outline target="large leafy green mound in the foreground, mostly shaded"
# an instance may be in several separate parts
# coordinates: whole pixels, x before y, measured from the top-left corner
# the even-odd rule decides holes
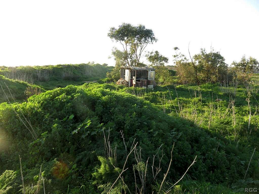
[[[199,103],[198,98],[193,100],[193,97],[188,97],[190,96],[188,89],[192,87],[178,86],[176,89],[178,97],[182,97],[182,101],[186,104],[189,103],[188,101]],[[212,88],[215,86],[200,86],[200,90],[203,89],[202,95],[206,96],[201,103],[207,103],[208,95],[206,93],[211,92]],[[28,184],[33,182],[35,184],[33,177],[38,174],[39,165],[43,164],[46,179],[53,182],[46,185],[47,189],[66,191],[67,187],[64,185],[69,183],[71,188],[76,190],[84,183],[87,185],[87,192],[94,193],[97,185],[102,185],[99,188],[99,191],[102,191],[107,182],[112,183],[117,176],[116,172],[107,172],[102,169],[103,167],[99,166],[100,162],[97,159],[97,156],[103,155],[102,127],[104,126],[106,130],[109,127],[111,129],[110,140],[112,147],[114,148],[115,145],[117,147],[119,167],[123,166],[122,162],[125,160],[125,156],[123,156],[125,148],[119,134],[120,130],[124,130],[124,135],[130,144],[134,138],[139,142],[143,149],[144,160],[153,156],[157,152],[157,148],[164,144],[163,149],[166,156],[162,160],[163,167],[168,165],[170,159],[168,153],[170,153],[173,141],[176,142],[168,181],[173,182],[175,178],[181,176],[195,155],[198,155],[198,161],[188,173],[192,179],[224,184],[240,179],[248,165],[250,149],[240,146],[238,150],[235,150],[234,141],[208,133],[208,131],[206,134],[205,126],[202,126],[204,129],[198,128],[195,123],[176,117],[173,113],[171,113],[172,116],[164,114],[161,111],[163,108],[160,104],[160,97],[165,95],[166,98],[170,98],[167,90],[166,87],[157,87],[156,91],[149,93],[135,91],[135,94],[140,96],[135,97],[126,94],[132,93],[131,88],[111,84],[85,84],[80,87],[58,88],[33,96],[28,103],[16,105],[17,108],[19,106],[26,114],[29,114],[31,123],[40,139],[34,146],[29,147],[28,145],[33,141],[30,134],[26,132],[20,122],[16,125],[12,124],[11,121],[16,120],[16,115],[10,106],[2,104],[0,120],[3,125],[0,127],[7,133],[6,138],[10,138],[9,142],[13,142],[13,144],[2,153],[1,171],[11,168],[19,173],[16,158],[17,154],[22,153],[23,157],[27,158],[24,161],[24,175]],[[170,105],[166,103],[166,111],[170,110],[170,106],[177,106],[174,88],[169,86],[169,90],[173,100],[169,103]],[[220,94],[218,93],[218,95]],[[241,103],[244,96],[241,91],[238,95],[241,95]],[[143,101],[143,98],[152,102],[153,105]],[[34,111],[32,112],[32,110]],[[200,113],[203,114],[202,111]],[[74,117],[68,119],[70,115]],[[64,118],[66,119],[64,120]],[[91,120],[92,123],[89,128],[84,128],[88,120]],[[104,125],[99,126],[101,123]],[[82,128],[76,127],[81,125]],[[18,130],[12,131],[10,130],[12,128]],[[80,130],[77,135],[71,135],[76,129]],[[39,135],[46,131],[47,135]],[[217,148],[218,143],[220,146]],[[65,174],[63,179],[55,178],[53,175],[53,165],[60,165],[61,161],[64,161],[68,169],[72,169],[68,175],[63,173]],[[75,163],[77,168],[73,171],[72,166]],[[131,158],[127,167],[131,168],[134,163],[135,160]],[[256,170],[253,169],[254,163],[256,161],[253,160],[248,176],[258,176],[255,174]],[[105,161],[102,161],[102,165],[105,166]],[[163,172],[165,170],[166,168],[163,168]],[[94,171],[95,173],[93,173]],[[151,172],[149,171],[149,173]],[[125,173],[125,181],[133,178],[132,173]],[[134,185],[130,185],[130,187],[134,189]],[[191,188],[190,183],[189,187]],[[188,183],[185,182],[183,188],[188,188]],[[206,188],[208,187],[205,187],[205,190]],[[213,188],[215,187],[213,186]],[[210,186],[211,190],[213,188]],[[230,193],[224,189],[219,187],[215,193]]]

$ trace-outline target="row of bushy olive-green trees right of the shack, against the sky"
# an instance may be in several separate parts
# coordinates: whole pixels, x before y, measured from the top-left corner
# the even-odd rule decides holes
[[[243,56],[239,62],[233,61],[231,66],[225,63],[225,58],[219,51],[211,48],[210,52],[200,49],[200,53],[189,59],[178,52],[175,47],[174,64],[181,84],[196,83],[237,83],[247,85],[253,74],[259,70],[259,62],[253,58]]]

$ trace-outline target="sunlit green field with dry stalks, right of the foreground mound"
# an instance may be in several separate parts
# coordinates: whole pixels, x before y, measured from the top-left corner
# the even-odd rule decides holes
[[[258,88],[258,86],[255,86],[255,88]],[[222,92],[221,87],[217,84],[203,84],[200,86],[178,85],[176,87],[173,85],[157,86],[154,91],[148,93],[134,91],[132,88],[124,88],[121,91],[136,95],[140,94],[142,98],[149,100],[161,110],[164,109],[166,113],[173,116],[177,116],[176,110],[179,112],[178,96],[182,116],[195,123],[199,123],[205,130],[208,128],[210,106],[212,106],[213,113],[210,131],[218,132],[223,137],[239,141],[244,146],[250,147],[251,150],[258,146],[256,139],[259,136],[257,131],[259,115],[257,109],[258,100],[256,101],[255,98],[259,99],[259,94],[255,93],[255,98],[254,96],[250,97],[252,116],[248,131],[249,109],[246,101],[247,91],[243,86],[238,86],[236,90],[232,88],[231,91],[235,91],[233,92],[235,96],[231,97],[229,94]],[[220,103],[215,102],[215,99],[218,98],[223,101]],[[235,100],[235,126],[232,123],[232,109],[231,107],[228,109],[229,100]],[[251,135],[247,134],[247,131],[250,133],[250,130]]]

